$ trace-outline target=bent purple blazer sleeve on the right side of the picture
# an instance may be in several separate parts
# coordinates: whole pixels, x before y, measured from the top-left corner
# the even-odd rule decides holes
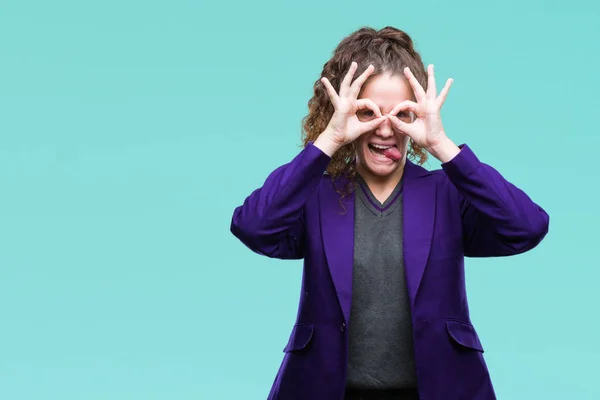
[[[462,145],[442,164],[461,196],[464,251],[467,257],[524,253],[548,233],[550,217],[527,194]]]

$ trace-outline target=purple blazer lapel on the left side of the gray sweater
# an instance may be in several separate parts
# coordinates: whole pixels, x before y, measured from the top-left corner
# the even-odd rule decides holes
[[[343,185],[343,181],[340,185]],[[354,193],[343,200],[330,179],[324,179],[319,191],[321,237],[331,279],[335,286],[344,319],[350,321],[352,305],[352,267],[354,263]]]

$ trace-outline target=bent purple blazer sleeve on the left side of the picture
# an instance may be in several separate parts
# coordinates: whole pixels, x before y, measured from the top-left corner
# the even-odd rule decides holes
[[[262,187],[233,212],[231,232],[252,251],[272,258],[301,259],[304,206],[331,158],[312,143],[271,172]]]

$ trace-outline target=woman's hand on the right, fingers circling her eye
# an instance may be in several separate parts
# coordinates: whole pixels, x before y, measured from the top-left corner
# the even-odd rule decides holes
[[[409,136],[414,143],[425,148],[434,157],[446,159],[454,157],[460,149],[446,136],[440,110],[446,101],[453,79],[448,79],[446,85],[437,95],[433,65],[427,67],[427,92],[417,81],[408,67],[404,74],[410,83],[417,102],[406,100],[397,104],[387,115],[392,122],[394,130]],[[396,117],[400,111],[411,111],[414,115],[413,122],[404,122]]]

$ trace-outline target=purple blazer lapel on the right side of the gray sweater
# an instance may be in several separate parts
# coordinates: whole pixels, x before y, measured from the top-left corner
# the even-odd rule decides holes
[[[431,172],[407,160],[402,196],[404,269],[408,294],[414,304],[433,238],[436,185],[431,182]]]

